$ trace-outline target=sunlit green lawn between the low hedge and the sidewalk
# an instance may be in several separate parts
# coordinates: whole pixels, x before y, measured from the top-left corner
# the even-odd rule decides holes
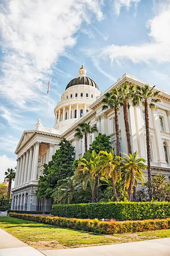
[[[112,236],[0,217],[0,228],[38,250],[95,246],[170,237],[170,229]]]

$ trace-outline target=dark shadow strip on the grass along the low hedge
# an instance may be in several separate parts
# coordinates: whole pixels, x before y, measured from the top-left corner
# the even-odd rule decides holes
[[[20,222],[18,223],[18,221],[16,221],[16,222],[13,221],[13,223],[9,223],[8,221],[1,221],[1,223],[3,223],[4,225],[8,225],[8,226],[5,227],[5,229],[17,228],[17,227],[20,227],[20,228],[48,228],[48,229],[56,228],[56,229],[72,230],[72,231],[76,231],[76,232],[79,232],[79,233],[88,233],[89,235],[94,235],[94,236],[104,236],[104,234],[93,233],[93,232],[84,231],[84,230],[78,230],[78,229],[75,229],[75,228],[58,227],[58,226],[54,226],[54,225],[48,225],[48,224],[44,224],[44,223],[33,222],[33,221],[30,221],[30,220],[22,220],[22,219],[17,219],[17,220],[19,220]],[[35,223],[36,223],[36,225],[35,225]],[[11,225],[9,225],[9,224],[11,224]]]

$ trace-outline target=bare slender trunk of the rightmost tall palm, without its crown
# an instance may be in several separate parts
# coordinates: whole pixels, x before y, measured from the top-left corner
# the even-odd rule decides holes
[[[149,111],[148,102],[145,99],[145,128],[146,128],[146,145],[147,145],[147,175],[148,175],[148,194],[149,200],[152,200],[152,185],[151,185],[151,166],[150,166],[150,130],[149,130]]]

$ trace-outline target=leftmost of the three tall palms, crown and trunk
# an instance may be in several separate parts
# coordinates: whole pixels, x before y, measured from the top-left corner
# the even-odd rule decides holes
[[[114,109],[114,125],[116,131],[116,153],[117,156],[120,155],[120,139],[119,139],[119,118],[118,118],[118,110],[119,110],[119,92],[117,87],[115,87],[111,92],[107,92],[104,95],[104,99],[102,100],[102,110],[106,110],[108,108]]]

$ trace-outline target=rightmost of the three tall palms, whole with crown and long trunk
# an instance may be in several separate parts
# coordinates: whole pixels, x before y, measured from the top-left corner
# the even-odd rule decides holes
[[[155,91],[155,86],[150,89],[148,84],[145,84],[144,87],[137,87],[137,92],[134,95],[133,105],[139,105],[142,102],[142,105],[145,108],[145,128],[146,128],[146,145],[147,145],[147,175],[148,175],[148,194],[149,199],[152,200],[152,176],[151,176],[151,165],[150,165],[150,122],[149,122],[149,110],[155,109],[155,103],[160,102],[160,99],[157,99],[159,91]]]

